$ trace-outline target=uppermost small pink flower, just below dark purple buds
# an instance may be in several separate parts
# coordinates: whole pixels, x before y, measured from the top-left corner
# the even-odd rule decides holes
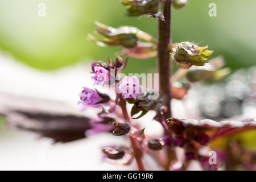
[[[109,72],[104,67],[94,67],[95,75],[92,76],[94,84],[104,85],[109,82]]]

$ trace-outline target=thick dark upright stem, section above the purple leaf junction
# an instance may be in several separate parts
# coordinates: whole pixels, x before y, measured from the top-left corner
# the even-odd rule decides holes
[[[164,5],[164,22],[158,20],[158,72],[159,93],[163,97],[164,105],[167,107],[164,118],[171,117],[171,0],[166,0]]]

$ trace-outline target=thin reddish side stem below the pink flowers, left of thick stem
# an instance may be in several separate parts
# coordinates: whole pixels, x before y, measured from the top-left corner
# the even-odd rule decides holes
[[[130,116],[127,112],[127,109],[126,109],[126,100],[125,98],[123,98],[123,96],[121,95],[120,96],[120,100],[119,100],[119,105],[123,111],[123,117],[125,118],[125,120],[127,122],[130,122]],[[145,171],[145,167],[144,167],[144,163],[143,163],[143,160],[142,160],[142,151],[141,151],[141,148],[139,148],[139,145],[138,145],[138,142],[135,138],[133,137],[129,137],[130,139],[130,142],[131,142],[131,147],[133,148],[133,155],[134,155],[134,158],[137,162],[137,165],[138,165],[138,168],[140,171]]]

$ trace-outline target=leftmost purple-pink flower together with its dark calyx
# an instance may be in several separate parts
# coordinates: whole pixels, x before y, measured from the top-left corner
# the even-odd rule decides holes
[[[96,105],[102,104],[109,101],[109,96],[106,94],[102,94],[97,90],[89,89],[84,87],[84,90],[80,93],[80,100],[78,104],[85,104],[85,105]]]

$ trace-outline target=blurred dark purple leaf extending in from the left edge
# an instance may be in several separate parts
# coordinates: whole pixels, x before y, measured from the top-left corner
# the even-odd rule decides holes
[[[34,131],[54,142],[85,138],[93,129],[90,119],[61,102],[0,93],[0,114],[15,129]]]

